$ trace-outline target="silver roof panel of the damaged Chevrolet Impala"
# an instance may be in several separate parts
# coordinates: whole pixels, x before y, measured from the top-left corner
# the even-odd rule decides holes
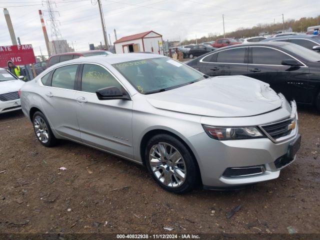
[[[62,61],[52,65],[53,67],[57,67],[60,65],[64,65],[65,63],[81,63],[81,62],[95,62],[95,63],[105,63],[105,64],[114,64],[120,63],[124,61],[133,61],[133,60],[142,60],[147,58],[156,58],[156,57],[166,57],[159,54],[150,54],[150,53],[115,53],[112,55],[96,55],[96,56],[87,56],[87,57],[79,57],[76,59]]]

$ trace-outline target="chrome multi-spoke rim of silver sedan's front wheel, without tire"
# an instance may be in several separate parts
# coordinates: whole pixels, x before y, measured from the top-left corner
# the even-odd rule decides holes
[[[178,187],[186,177],[186,166],[181,153],[166,142],[153,145],[149,163],[155,177],[168,187]]]

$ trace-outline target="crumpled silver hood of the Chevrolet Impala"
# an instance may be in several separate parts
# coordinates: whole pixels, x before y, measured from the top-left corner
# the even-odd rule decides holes
[[[240,75],[210,77],[146,97],[156,108],[215,117],[258,115],[282,105],[269,84]]]

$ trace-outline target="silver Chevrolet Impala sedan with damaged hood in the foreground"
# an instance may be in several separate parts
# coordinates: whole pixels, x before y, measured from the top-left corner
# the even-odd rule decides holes
[[[157,54],[58,63],[22,86],[21,104],[44,146],[69,139],[144,164],[176,193],[274,179],[300,146],[295,102],[267,83]]]

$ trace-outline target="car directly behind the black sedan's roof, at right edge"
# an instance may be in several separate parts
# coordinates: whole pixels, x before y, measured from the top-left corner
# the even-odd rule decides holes
[[[320,52],[320,36],[319,35],[290,35],[290,36],[277,36],[267,38],[263,41],[286,41],[304,46],[310,50]]]

